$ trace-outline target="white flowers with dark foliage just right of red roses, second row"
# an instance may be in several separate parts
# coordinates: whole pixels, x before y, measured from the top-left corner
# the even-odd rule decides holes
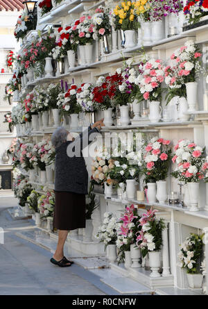
[[[119,87],[116,87],[116,93],[112,101],[114,106],[128,105],[133,99],[137,99],[138,102],[143,100],[139,87],[135,83],[137,71],[132,64],[133,60],[124,60],[123,67],[116,69],[116,73],[122,76],[122,83]]]

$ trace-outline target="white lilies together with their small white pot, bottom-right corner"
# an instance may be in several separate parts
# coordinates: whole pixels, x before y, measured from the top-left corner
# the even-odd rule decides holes
[[[186,269],[189,287],[202,287],[203,275],[200,274],[200,259],[202,257],[203,234],[191,233],[189,237],[180,245],[180,252],[177,254],[181,268]]]

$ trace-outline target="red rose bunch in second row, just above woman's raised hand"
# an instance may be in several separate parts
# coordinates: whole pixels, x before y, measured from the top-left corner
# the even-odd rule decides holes
[[[112,108],[112,99],[116,94],[116,90],[119,89],[119,85],[122,84],[123,78],[121,74],[114,74],[112,76],[101,76],[98,78],[96,87],[92,91],[93,99],[96,110],[107,110]]]

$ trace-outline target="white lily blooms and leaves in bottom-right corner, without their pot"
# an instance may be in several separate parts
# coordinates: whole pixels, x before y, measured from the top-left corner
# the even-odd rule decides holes
[[[186,269],[187,274],[199,274],[200,273],[200,260],[202,258],[203,247],[202,235],[191,233],[186,240],[180,245],[180,252],[177,253],[177,257],[180,260],[178,266]]]

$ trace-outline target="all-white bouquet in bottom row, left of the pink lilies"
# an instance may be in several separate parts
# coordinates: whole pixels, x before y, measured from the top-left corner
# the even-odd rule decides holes
[[[99,226],[96,238],[105,244],[106,249],[108,244],[116,244],[118,219],[112,212],[105,212],[103,216],[103,224]]]

